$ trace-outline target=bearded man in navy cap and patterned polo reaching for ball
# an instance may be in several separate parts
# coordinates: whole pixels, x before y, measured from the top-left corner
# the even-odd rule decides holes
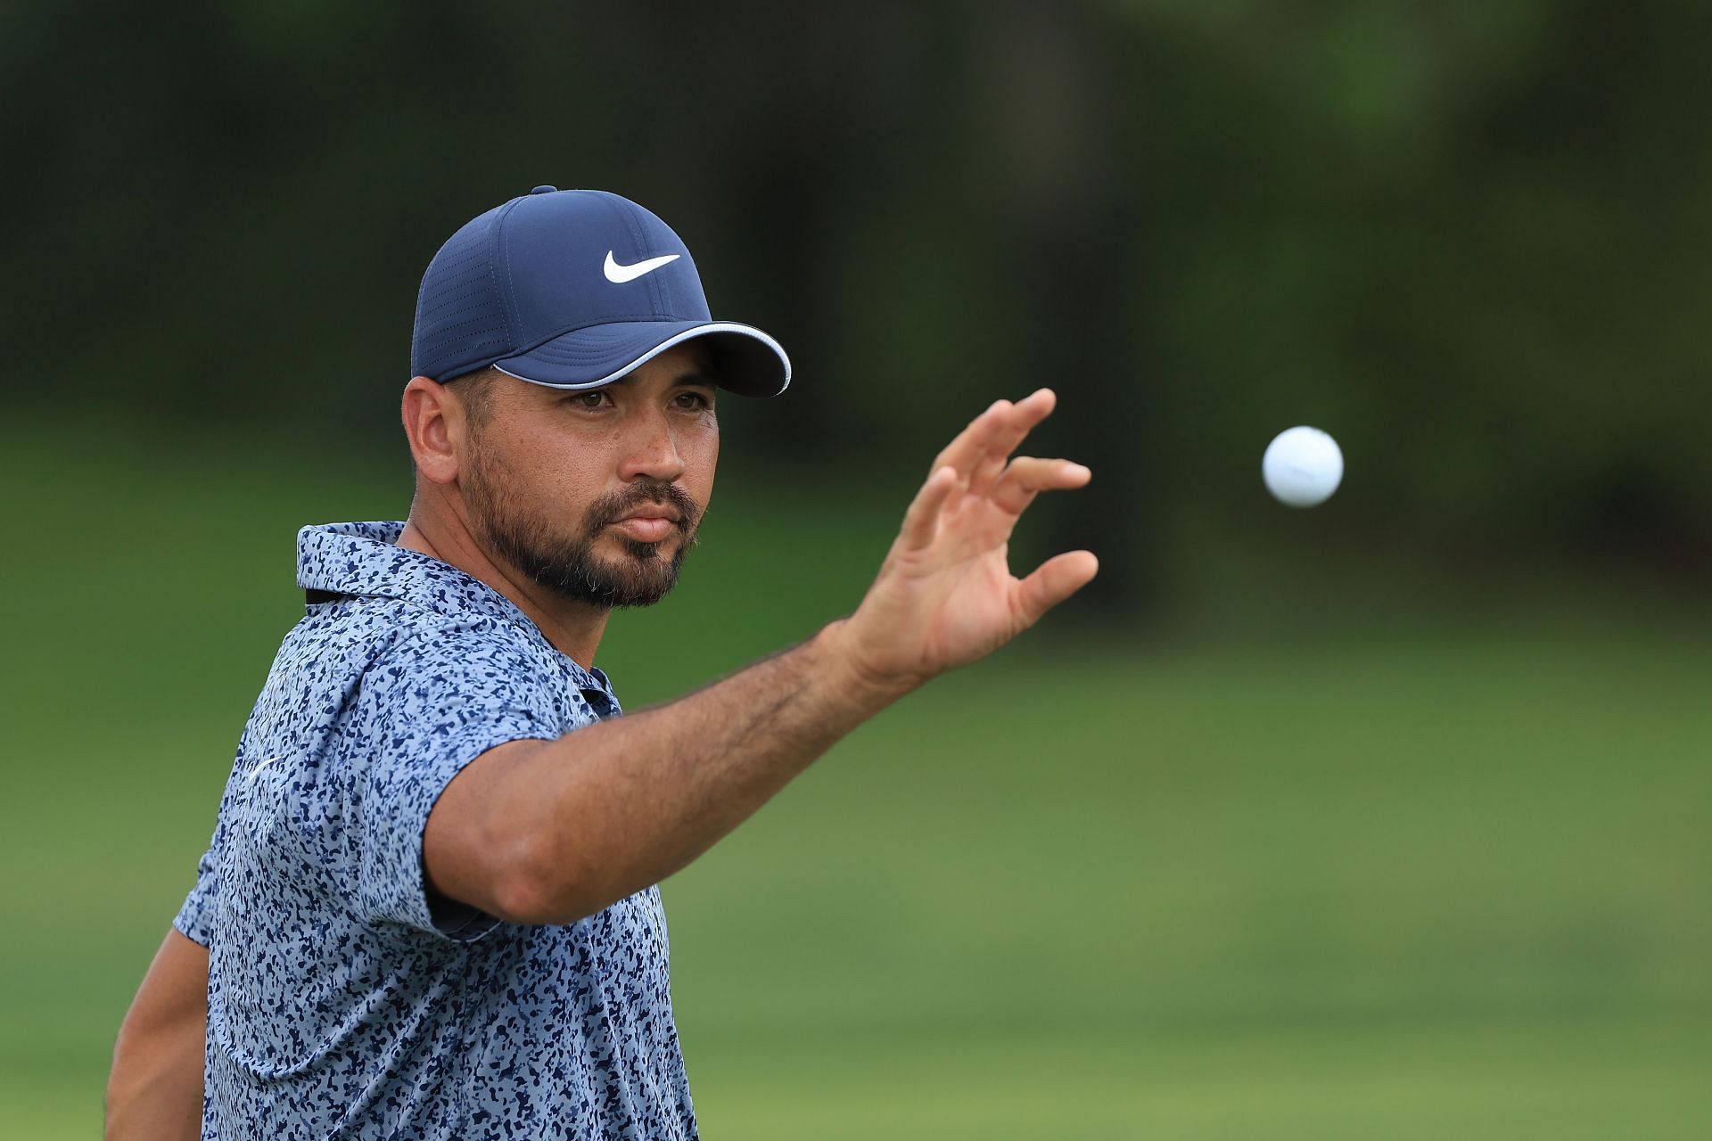
[[[620,717],[594,653],[695,542],[716,388],[784,351],[714,322],[642,207],[541,186],[433,258],[406,523],[306,527],[306,614],[115,1049],[110,1138],[693,1138],[656,884],[834,741],[1096,573],[1005,563],[1053,407],[935,462],[854,614]]]

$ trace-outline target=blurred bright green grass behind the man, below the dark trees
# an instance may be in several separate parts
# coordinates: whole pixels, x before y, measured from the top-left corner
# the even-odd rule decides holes
[[[301,612],[293,534],[397,517],[406,486],[270,441],[14,431],[3,457],[29,558],[0,582],[24,648],[0,664],[0,1120],[89,1136]],[[608,635],[632,708],[853,606],[894,515],[721,496],[680,594]],[[704,1131],[1703,1136],[1709,693],[1698,631],[1597,612],[1031,635],[666,884]]]

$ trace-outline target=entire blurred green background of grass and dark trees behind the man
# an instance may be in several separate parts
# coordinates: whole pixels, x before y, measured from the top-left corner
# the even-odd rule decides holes
[[[0,1120],[89,1136],[421,269],[637,198],[791,349],[630,708],[856,604],[996,395],[1096,587],[664,886],[709,1138],[1712,1129],[1712,12],[0,10]],[[1258,481],[1310,423],[1323,508]]]

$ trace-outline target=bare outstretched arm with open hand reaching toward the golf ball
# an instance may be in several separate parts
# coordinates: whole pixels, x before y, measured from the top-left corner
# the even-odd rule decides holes
[[[510,922],[591,915],[705,852],[868,717],[1039,621],[1097,570],[1087,551],[1022,580],[1007,563],[1034,496],[1091,477],[1012,458],[1053,404],[1044,388],[1000,400],[940,453],[849,618],[669,705],[471,761],[428,816],[430,883]]]

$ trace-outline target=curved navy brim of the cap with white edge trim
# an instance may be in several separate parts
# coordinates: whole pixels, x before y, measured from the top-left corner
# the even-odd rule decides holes
[[[779,342],[734,322],[613,322],[562,334],[493,368],[548,388],[599,388],[685,340],[705,340],[712,380],[745,397],[776,397],[791,385]]]

